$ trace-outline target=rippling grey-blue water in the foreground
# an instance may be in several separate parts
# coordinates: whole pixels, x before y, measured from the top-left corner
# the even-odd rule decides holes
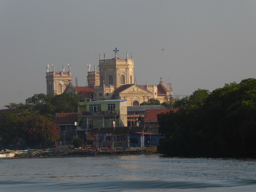
[[[255,191],[255,159],[159,154],[0,159],[0,191]]]

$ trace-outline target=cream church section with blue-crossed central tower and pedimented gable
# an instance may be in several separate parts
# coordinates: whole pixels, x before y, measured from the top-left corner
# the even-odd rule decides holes
[[[98,71],[94,65],[94,71],[90,71],[88,65],[87,81],[88,85],[94,87],[95,99],[117,99],[127,100],[127,106],[138,106],[142,102],[147,102],[154,98],[162,102],[170,103],[172,84],[165,85],[160,79],[158,85],[137,85],[134,78],[133,55],[131,59],[117,57],[118,50],[113,50],[115,57],[101,59],[98,64]]]

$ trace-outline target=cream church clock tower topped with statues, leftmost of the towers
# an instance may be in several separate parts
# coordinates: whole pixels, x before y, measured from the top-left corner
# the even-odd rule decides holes
[[[71,65],[68,64],[69,71],[65,72],[65,66],[62,66],[63,71],[55,71],[55,66],[52,64],[53,71],[49,72],[49,65],[47,65],[46,72],[46,85],[47,94],[57,94],[60,95],[64,92],[66,87],[71,83],[72,75],[70,71]]]

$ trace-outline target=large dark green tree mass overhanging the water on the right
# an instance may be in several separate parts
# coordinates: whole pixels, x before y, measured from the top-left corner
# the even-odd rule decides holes
[[[158,150],[171,156],[256,156],[256,80],[197,90],[175,103],[176,113],[158,115],[166,135]]]

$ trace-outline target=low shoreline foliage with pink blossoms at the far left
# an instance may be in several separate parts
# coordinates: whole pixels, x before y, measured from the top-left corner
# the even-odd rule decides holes
[[[24,139],[26,142],[48,142],[59,138],[58,126],[43,115],[33,111],[33,105],[11,103],[12,110],[0,117],[2,143]]]

